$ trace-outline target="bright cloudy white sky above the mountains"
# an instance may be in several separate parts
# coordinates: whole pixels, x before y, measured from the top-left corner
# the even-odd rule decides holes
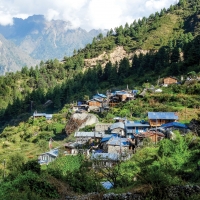
[[[70,21],[86,30],[110,29],[169,8],[177,0],[0,0],[0,24],[13,17],[42,14],[46,19]]]

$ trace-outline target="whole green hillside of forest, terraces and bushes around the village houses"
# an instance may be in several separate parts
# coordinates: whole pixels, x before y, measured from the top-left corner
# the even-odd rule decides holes
[[[99,34],[62,61],[41,61],[35,68],[0,76],[0,198],[199,199],[199,5],[199,0],[180,0],[168,10],[110,30],[106,37]],[[165,87],[163,79],[169,76],[178,83]],[[69,151],[64,145],[75,141],[73,133],[65,132],[75,112],[73,105],[97,93],[128,88],[138,91],[133,100],[91,114],[102,123],[113,124],[115,117],[121,117],[129,124],[147,122],[148,112],[173,112],[191,131],[173,130],[172,138],[157,142],[145,138],[134,150],[132,145],[127,147],[126,155],[132,151],[129,160],[122,161],[121,154],[112,167],[84,154],[96,148],[97,141],[95,146],[91,141],[84,144],[83,155],[64,156]],[[52,114],[52,118],[34,118],[34,112]],[[39,165],[38,155],[51,146],[60,147],[56,160]],[[106,180],[112,182],[111,190],[102,187]]]

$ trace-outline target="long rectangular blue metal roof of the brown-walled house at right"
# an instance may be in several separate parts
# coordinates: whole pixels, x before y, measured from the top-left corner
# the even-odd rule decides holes
[[[175,112],[148,112],[149,119],[174,119],[177,120],[178,116]]]

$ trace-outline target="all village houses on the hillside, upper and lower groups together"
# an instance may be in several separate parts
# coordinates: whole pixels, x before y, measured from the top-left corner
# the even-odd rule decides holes
[[[163,86],[177,84],[174,77],[163,79]],[[142,92],[143,95],[144,91]],[[90,110],[105,111],[120,102],[133,100],[138,95],[138,90],[107,91],[106,95],[96,94],[92,99],[78,102],[73,106],[74,112],[82,113]],[[34,113],[33,117],[44,116],[51,119],[52,115],[46,113]],[[119,160],[129,159],[136,148],[145,143],[156,144],[164,138],[173,137],[172,130],[179,129],[184,132],[188,127],[178,122],[178,115],[174,112],[148,112],[148,121],[129,121],[126,118],[116,117],[115,123],[97,123],[92,132],[75,132],[75,142],[64,144],[64,154],[76,155],[78,153],[90,156],[93,160],[101,160],[103,165],[112,166]],[[49,152],[39,156],[41,164],[48,164],[56,159],[58,149],[50,149]],[[99,163],[98,163],[99,164]]]

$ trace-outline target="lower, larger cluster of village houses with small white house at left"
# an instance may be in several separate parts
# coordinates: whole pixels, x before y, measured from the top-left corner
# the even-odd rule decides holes
[[[112,166],[119,160],[127,160],[138,147],[146,143],[158,143],[173,136],[173,129],[186,131],[188,127],[178,121],[174,112],[148,112],[148,121],[129,121],[116,117],[115,123],[97,123],[92,132],[75,132],[75,142],[64,144],[65,155],[85,154],[102,165]],[[50,150],[40,155],[40,163],[56,159],[58,151]],[[98,162],[98,165],[100,163]],[[95,165],[95,162],[94,162]]]

